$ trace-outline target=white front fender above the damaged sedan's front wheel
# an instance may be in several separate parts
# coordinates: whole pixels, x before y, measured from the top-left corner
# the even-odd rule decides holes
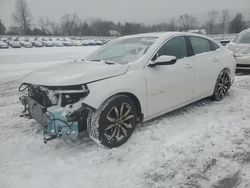
[[[126,74],[89,83],[89,95],[84,103],[98,109],[109,97],[118,93],[130,93],[140,102],[141,112],[147,115],[146,82],[143,70],[128,72]]]

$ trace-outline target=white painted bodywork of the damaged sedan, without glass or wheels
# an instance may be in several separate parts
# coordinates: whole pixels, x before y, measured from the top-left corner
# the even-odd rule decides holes
[[[23,82],[44,86],[87,84],[89,94],[83,102],[95,109],[118,93],[135,96],[144,120],[149,120],[195,100],[212,95],[219,73],[227,68],[234,80],[236,60],[231,52],[215,42],[216,51],[185,57],[173,65],[148,67],[163,43],[176,36],[204,36],[169,32],[122,37],[158,37],[147,53],[126,65],[104,62],[72,62],[27,75]],[[119,40],[119,39],[118,39]]]

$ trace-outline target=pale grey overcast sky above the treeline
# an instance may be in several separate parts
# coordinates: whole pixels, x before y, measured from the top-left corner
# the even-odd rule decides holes
[[[229,9],[243,12],[250,19],[250,0],[26,0],[33,21],[48,17],[59,21],[64,13],[77,13],[80,18],[101,18],[111,21],[133,21],[145,24],[168,21],[184,13],[205,19],[209,10]],[[7,26],[15,0],[0,0],[0,18]]]

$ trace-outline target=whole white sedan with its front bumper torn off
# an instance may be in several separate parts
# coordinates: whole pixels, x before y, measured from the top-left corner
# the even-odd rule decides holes
[[[205,97],[221,100],[235,67],[232,52],[201,35],[125,36],[83,60],[24,77],[23,115],[44,126],[45,143],[87,130],[97,143],[117,147],[142,121]]]

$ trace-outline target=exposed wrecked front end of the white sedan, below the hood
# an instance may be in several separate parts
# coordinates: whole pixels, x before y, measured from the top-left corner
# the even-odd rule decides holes
[[[86,85],[39,86],[23,83],[19,91],[24,105],[22,117],[35,119],[44,127],[44,143],[55,138],[76,141],[86,130],[92,108],[83,103],[89,94]]]

